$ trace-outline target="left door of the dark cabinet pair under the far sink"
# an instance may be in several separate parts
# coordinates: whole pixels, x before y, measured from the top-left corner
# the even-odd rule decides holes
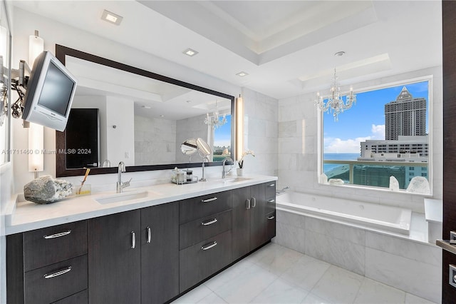
[[[232,198],[232,258],[237,260],[250,251],[250,187],[234,189]]]

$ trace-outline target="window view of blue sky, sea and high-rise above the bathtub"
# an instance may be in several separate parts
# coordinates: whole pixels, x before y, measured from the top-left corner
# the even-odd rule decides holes
[[[429,178],[430,83],[410,81],[356,93],[356,104],[338,121],[323,113],[322,172],[328,180],[388,188],[394,176],[406,189],[415,176]]]

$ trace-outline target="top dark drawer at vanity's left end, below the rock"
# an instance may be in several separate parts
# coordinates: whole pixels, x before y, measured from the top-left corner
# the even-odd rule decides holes
[[[86,221],[24,233],[24,271],[41,268],[86,253]]]

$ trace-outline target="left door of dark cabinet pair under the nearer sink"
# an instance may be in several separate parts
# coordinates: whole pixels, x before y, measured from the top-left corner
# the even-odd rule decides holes
[[[89,303],[140,303],[140,255],[140,210],[90,219]]]

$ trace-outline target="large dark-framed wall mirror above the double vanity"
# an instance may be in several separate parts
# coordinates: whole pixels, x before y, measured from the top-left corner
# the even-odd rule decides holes
[[[56,176],[201,166],[188,138],[212,147],[207,166],[234,151],[234,96],[56,45],[78,78],[68,125],[56,131]]]

